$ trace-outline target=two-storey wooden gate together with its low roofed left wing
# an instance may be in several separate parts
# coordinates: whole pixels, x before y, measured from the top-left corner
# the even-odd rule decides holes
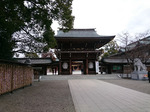
[[[34,76],[53,74],[71,75],[79,70],[81,74],[97,74],[98,57],[102,51],[97,50],[111,41],[115,36],[98,35],[95,29],[72,29],[69,32],[58,31],[56,56],[53,52],[43,53],[42,58],[18,58],[21,63],[29,63],[34,69]]]

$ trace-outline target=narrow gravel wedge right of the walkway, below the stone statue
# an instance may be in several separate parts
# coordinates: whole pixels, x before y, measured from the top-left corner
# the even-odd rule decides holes
[[[150,83],[148,83],[148,81],[131,80],[131,79],[103,80],[103,81],[150,94]]]

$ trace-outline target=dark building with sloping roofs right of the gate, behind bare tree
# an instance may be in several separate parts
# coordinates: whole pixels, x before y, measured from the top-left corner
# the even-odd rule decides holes
[[[147,66],[147,70],[150,71],[150,36],[127,45],[127,49],[127,53],[133,54],[133,59],[138,57],[142,58],[144,60],[143,63]],[[101,61],[101,71],[106,72],[108,74],[129,74],[133,70],[128,65],[125,50],[122,50],[122,52],[120,53],[104,58]]]

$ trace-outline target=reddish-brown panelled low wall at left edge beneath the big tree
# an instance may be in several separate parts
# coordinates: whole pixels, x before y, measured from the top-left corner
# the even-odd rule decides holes
[[[0,95],[31,85],[33,69],[21,63],[0,60]]]

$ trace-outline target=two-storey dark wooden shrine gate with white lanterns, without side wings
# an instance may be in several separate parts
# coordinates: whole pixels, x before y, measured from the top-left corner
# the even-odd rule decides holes
[[[69,32],[58,31],[57,58],[59,59],[58,74],[71,75],[74,70],[82,74],[96,74],[98,57],[104,46],[115,36],[98,35],[95,29],[72,29]]]

